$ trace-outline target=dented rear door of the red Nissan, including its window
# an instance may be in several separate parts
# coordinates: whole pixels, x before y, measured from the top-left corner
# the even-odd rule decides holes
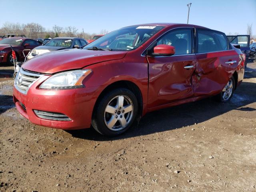
[[[239,62],[224,33],[200,28],[196,30],[196,59],[192,77],[195,96],[220,93]]]

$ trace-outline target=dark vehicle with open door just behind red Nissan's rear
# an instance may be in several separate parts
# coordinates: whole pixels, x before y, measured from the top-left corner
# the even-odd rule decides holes
[[[245,54],[245,68],[248,62],[249,54],[250,54],[250,35],[228,35],[228,40],[232,44],[240,45],[240,50]]]

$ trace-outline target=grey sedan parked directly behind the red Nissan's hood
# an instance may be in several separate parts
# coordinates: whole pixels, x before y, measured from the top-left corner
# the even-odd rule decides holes
[[[84,47],[88,42],[82,38],[76,37],[56,37],[49,40],[46,44],[34,48],[28,55],[28,60],[40,54],[63,50]]]

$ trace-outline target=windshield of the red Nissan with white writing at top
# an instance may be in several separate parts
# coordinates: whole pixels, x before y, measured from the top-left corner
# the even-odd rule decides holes
[[[88,44],[84,49],[107,48],[112,51],[134,50],[141,46],[163,26],[131,26],[113,31]]]

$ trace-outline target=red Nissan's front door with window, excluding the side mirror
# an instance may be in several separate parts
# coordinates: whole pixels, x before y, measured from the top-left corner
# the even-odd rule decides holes
[[[194,96],[191,84],[196,66],[194,28],[170,30],[147,50],[149,65],[148,107],[154,108]],[[175,47],[172,56],[152,56],[154,47],[167,44]]]

